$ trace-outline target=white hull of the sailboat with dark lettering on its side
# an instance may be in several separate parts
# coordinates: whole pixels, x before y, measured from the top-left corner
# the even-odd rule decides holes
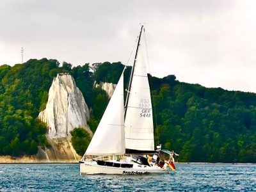
[[[96,162],[80,163],[80,174],[119,174],[119,175],[141,175],[145,173],[168,173],[168,168],[163,169],[159,166],[138,166],[134,164],[132,168],[122,168],[113,166],[102,166]]]

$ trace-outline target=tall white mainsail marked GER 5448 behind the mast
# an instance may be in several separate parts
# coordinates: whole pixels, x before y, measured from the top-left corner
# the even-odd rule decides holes
[[[125,147],[134,150],[154,150],[150,88],[141,45],[138,47],[125,116]]]

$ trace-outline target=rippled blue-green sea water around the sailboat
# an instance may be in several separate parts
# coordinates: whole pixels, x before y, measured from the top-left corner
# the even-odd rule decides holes
[[[79,164],[0,164],[0,191],[256,191],[255,164],[176,164],[161,175],[79,175]]]

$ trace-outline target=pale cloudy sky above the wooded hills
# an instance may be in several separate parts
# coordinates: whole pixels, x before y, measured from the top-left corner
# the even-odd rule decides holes
[[[0,65],[122,61],[146,24],[150,73],[256,93],[256,1],[0,0]]]

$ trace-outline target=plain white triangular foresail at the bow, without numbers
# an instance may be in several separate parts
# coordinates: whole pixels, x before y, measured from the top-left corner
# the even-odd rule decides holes
[[[84,155],[110,156],[124,153],[124,76],[122,74]]]

